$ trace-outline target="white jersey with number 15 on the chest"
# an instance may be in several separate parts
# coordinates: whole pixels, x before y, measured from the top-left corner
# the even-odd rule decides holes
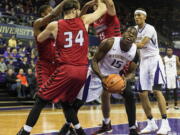
[[[105,57],[98,63],[103,75],[119,74],[123,67],[132,61],[136,55],[137,47],[132,44],[128,52],[120,48],[121,37],[114,37],[114,44]]]

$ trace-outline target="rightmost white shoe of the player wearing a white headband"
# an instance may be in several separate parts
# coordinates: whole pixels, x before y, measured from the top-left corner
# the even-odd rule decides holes
[[[167,119],[162,119],[161,121],[161,127],[160,129],[157,131],[157,134],[160,135],[167,135],[168,132],[171,131],[171,127],[169,126],[169,122]]]

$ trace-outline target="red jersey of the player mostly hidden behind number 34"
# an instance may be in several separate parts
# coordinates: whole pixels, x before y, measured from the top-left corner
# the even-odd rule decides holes
[[[47,39],[42,43],[39,43],[36,37],[36,44],[39,60],[45,60],[48,62],[55,61],[55,41],[53,39]]]

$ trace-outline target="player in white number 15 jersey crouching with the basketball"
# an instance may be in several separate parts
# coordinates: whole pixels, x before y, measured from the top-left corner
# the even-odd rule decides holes
[[[100,47],[99,47],[99,51],[96,52],[95,58],[93,59],[93,65],[92,68],[94,67],[94,65],[96,66],[96,56],[98,57],[98,61],[101,64],[100,67],[102,67],[102,65],[104,66],[105,69],[107,69],[107,71],[104,71],[104,68],[102,68],[103,73],[105,73],[105,75],[109,75],[112,73],[115,74],[119,74],[120,71],[122,71],[122,67],[124,67],[124,65],[126,65],[127,62],[133,61],[131,66],[130,66],[130,70],[129,70],[129,74],[127,74],[126,79],[129,80],[133,77],[133,72],[136,68],[136,65],[134,64],[137,63],[138,61],[138,56],[136,54],[136,46],[132,45],[132,42],[135,40],[134,38],[136,38],[136,34],[137,31],[134,27],[130,27],[124,34],[123,38],[112,38],[112,39],[107,39],[102,41]],[[131,38],[129,38],[131,37]],[[126,42],[126,40],[131,40],[131,42]],[[109,42],[111,41],[111,42]],[[115,43],[114,43],[115,42]],[[116,50],[116,51],[112,51],[112,49],[116,49],[119,48],[119,45],[122,46],[121,50]],[[131,47],[132,45],[132,47]],[[127,47],[127,48],[126,48]],[[128,48],[129,47],[129,48]],[[106,48],[106,51],[103,51],[102,49]],[[127,49],[125,52],[123,52],[124,49]],[[123,54],[121,54],[123,52]],[[99,55],[102,55],[103,53],[103,57],[102,60],[99,59]],[[109,55],[111,55],[112,53],[115,53],[114,55],[112,55],[112,58],[107,58]],[[117,53],[117,55],[116,55]],[[132,54],[131,54],[132,53]],[[108,55],[108,56],[106,56]],[[113,59],[114,57],[114,59]],[[121,61],[119,61],[119,59],[115,58],[118,57],[119,59],[122,59]],[[128,58],[125,58],[128,57]],[[106,60],[107,59],[107,60]],[[112,61],[112,59],[114,61],[119,61],[119,62],[114,62]],[[109,61],[111,60],[112,62],[114,62],[113,66],[109,66],[107,63],[104,63],[105,61]],[[107,66],[107,67],[106,67]],[[77,96],[77,103],[76,106],[75,104],[71,105],[71,108],[69,108],[69,110],[65,110],[65,114],[68,115],[68,113],[71,113],[71,120],[73,119],[73,121],[68,120],[70,119],[69,117],[66,117],[66,120],[69,121],[69,123],[73,123],[73,125],[78,125],[79,124],[79,120],[78,120],[78,110],[80,109],[80,107],[85,103],[85,102],[91,102],[93,100],[98,99],[102,92],[103,92],[103,86],[102,86],[102,81],[101,79],[96,75],[96,72],[94,72],[92,70],[92,68],[90,67],[88,70],[88,74],[87,74],[87,79],[85,84],[83,85],[83,87],[81,88],[81,91],[79,92],[78,96]],[[95,67],[96,68],[96,67]],[[95,70],[96,71],[96,70]],[[130,135],[137,135],[138,133],[136,132],[136,126],[135,126],[135,101],[134,101],[134,95],[131,92],[130,88],[126,88],[125,92],[122,94],[122,96],[125,98],[125,106],[126,106],[126,111],[127,111],[127,115],[128,115],[128,121],[129,121],[129,127],[130,127]],[[62,104],[63,106],[63,104]],[[66,116],[65,115],[65,116]],[[61,129],[61,133],[63,133],[64,135],[66,133],[68,133],[69,130],[69,124],[66,123],[64,124],[63,128]],[[99,132],[99,131],[98,131]],[[93,134],[99,134],[99,133],[93,133]],[[101,132],[102,134],[102,132]]]

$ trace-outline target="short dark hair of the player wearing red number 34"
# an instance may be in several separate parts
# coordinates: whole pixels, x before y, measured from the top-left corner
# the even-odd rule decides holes
[[[79,9],[79,5],[80,3],[78,0],[67,0],[63,5],[63,12],[66,13],[73,8]]]

